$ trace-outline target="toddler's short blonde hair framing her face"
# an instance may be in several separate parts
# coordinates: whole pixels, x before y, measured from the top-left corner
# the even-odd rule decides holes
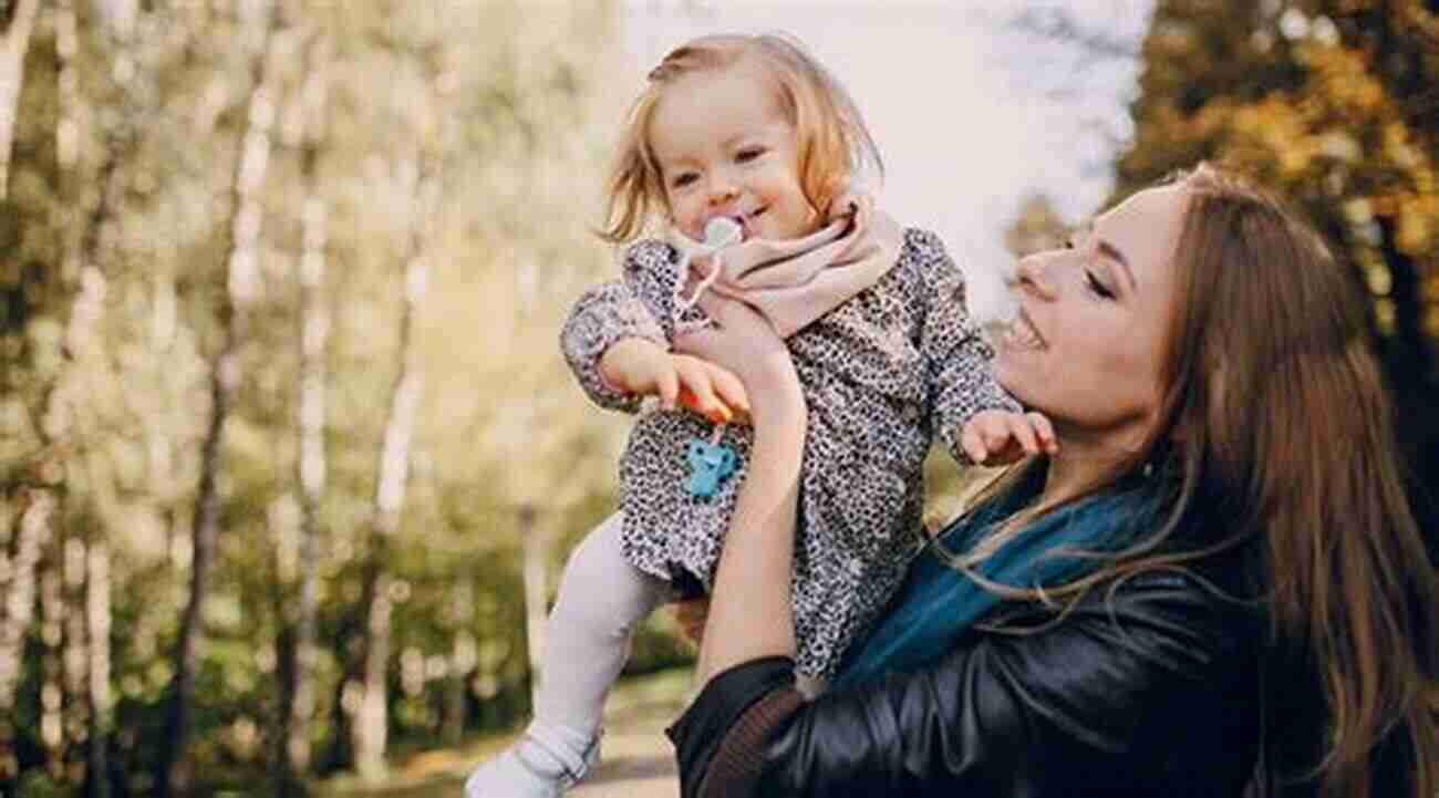
[[[655,208],[668,204],[659,164],[649,147],[649,124],[665,86],[695,72],[727,69],[755,58],[768,68],[796,132],[800,188],[822,214],[866,167],[884,175],[884,162],[849,92],[812,55],[778,35],[702,36],[671,50],[650,70],[649,85],[630,108],[619,154],[610,168],[600,237],[637,237]]]

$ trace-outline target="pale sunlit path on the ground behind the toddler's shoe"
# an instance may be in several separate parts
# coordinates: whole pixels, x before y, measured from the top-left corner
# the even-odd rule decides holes
[[[666,671],[622,683],[604,712],[604,758],[568,798],[678,798],[675,759],[665,726],[684,709],[689,671]],[[465,774],[509,738],[489,738],[462,749],[429,751],[394,766],[380,784],[335,781],[321,798],[462,798]]]

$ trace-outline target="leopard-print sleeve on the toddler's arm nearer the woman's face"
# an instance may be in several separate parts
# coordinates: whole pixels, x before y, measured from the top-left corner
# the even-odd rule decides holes
[[[1020,414],[1023,408],[994,380],[994,351],[964,306],[964,275],[932,233],[915,242],[921,253],[927,309],[921,331],[935,430],[961,464],[974,459],[964,447],[964,427],[986,410]]]

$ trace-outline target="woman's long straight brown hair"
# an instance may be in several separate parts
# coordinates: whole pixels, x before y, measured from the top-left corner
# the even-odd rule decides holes
[[[1203,164],[1177,180],[1187,207],[1160,424],[1118,469],[1163,459],[1180,477],[1174,510],[1098,572],[1030,598],[1072,605],[1094,585],[1256,533],[1268,648],[1298,651],[1322,684],[1328,729],[1322,758],[1308,763],[1321,794],[1370,798],[1383,746],[1383,766],[1407,771],[1404,794],[1435,798],[1439,587],[1404,493],[1363,292],[1271,196]],[[1200,487],[1225,497],[1223,538],[1156,554]]]

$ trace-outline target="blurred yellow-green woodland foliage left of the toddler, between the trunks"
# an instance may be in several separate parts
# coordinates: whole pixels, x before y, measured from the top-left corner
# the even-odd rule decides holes
[[[153,788],[148,768],[168,745],[235,171],[255,89],[240,12],[142,6],[122,39],[91,4],[75,4],[73,95],[60,91],[59,4],[42,12],[0,213],[0,545],[17,539],[37,487],[59,490],[62,502],[42,581],[63,582],[66,552],[85,551],[76,549],[85,541],[106,544],[111,705],[102,712],[111,771],[131,794]],[[384,562],[394,585],[391,748],[433,745],[448,728],[509,728],[528,712],[517,508],[535,503],[555,539],[593,526],[607,512],[625,428],[584,403],[554,342],[568,303],[610,267],[589,234],[612,124],[600,118],[609,105],[597,85],[610,58],[610,36],[600,35],[614,24],[609,6],[283,6],[266,65],[276,121],[259,285],[239,309],[242,381],[222,446],[220,549],[201,611],[190,745],[200,795],[269,778],[279,636],[294,620],[305,197],[288,125],[308,42],[332,45],[317,161],[331,326],[314,772],[348,762],[342,676],[364,636],[360,568],[399,370],[414,203],[406,161],[416,152],[440,154],[442,196],[419,253],[430,263],[414,342],[425,393],[401,526]],[[128,82],[117,81],[122,52]],[[62,162],[68,116],[75,158]],[[83,266],[104,293],[96,344],[75,349],[68,329]],[[555,574],[563,554],[550,555]],[[12,585],[0,575],[0,591]],[[68,598],[47,611],[63,625],[82,610]],[[85,687],[63,673],[82,640],[69,627],[45,631],[46,618],[27,636],[10,733],[0,733],[7,795],[73,794],[83,778],[72,765],[85,761]],[[663,621],[640,650],[637,667],[685,656]],[[52,736],[47,692],[63,699],[65,723]],[[69,769],[53,766],[62,761]]]

